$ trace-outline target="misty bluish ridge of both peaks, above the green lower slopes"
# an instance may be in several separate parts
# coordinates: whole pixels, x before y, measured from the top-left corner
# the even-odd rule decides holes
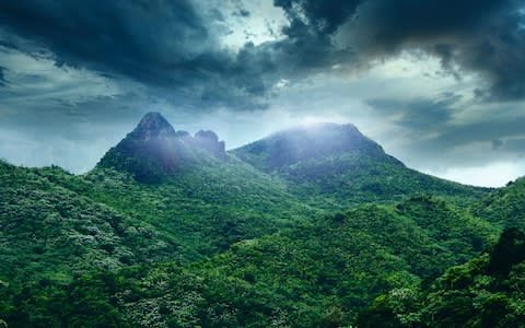
[[[219,165],[217,160],[223,162],[232,156],[283,178],[290,192],[304,194],[303,200],[310,203],[318,203],[319,197],[332,197],[334,190],[343,196],[335,199],[343,207],[427,191],[488,191],[410,169],[352,124],[291,127],[226,152],[224,141],[219,141],[213,131],[200,130],[190,136],[176,131],[160,113],[148,113],[97,166],[128,172],[142,183],[162,184],[184,171]]]

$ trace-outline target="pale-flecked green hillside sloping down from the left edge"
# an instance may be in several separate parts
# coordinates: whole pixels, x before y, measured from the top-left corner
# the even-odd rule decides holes
[[[49,180],[58,167],[20,168],[0,162],[0,279],[68,282],[90,268],[116,269],[166,257],[176,245],[152,225],[132,220]]]

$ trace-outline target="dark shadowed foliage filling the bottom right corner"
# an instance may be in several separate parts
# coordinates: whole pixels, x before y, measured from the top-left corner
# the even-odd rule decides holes
[[[505,230],[489,255],[448,269],[430,288],[394,289],[360,327],[525,327],[525,234]]]

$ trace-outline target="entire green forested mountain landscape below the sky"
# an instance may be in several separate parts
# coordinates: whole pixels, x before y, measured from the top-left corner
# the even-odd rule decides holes
[[[352,125],[226,151],[159,113],[89,173],[0,162],[0,327],[525,327],[525,179]]]

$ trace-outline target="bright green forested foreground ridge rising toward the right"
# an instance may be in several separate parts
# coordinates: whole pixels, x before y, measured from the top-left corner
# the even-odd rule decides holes
[[[429,221],[436,224],[429,229]],[[118,314],[117,326],[341,327],[378,294],[436,278],[494,235],[489,224],[435,198],[366,204],[236,243],[200,263],[96,273],[40,301],[39,311],[63,304],[69,323],[79,308],[68,300],[81,290],[93,295],[85,305],[106,304]]]

